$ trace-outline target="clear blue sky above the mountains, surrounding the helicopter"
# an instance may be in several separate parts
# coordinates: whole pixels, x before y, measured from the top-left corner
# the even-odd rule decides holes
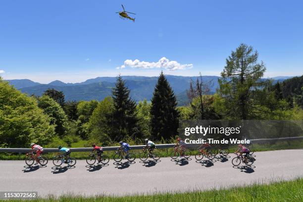
[[[115,13],[121,3],[135,23]],[[219,75],[241,43],[259,52],[265,77],[302,75],[302,10],[300,0],[0,1],[0,75],[41,83]]]

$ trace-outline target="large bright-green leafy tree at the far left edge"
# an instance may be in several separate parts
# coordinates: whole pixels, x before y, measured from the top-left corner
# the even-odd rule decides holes
[[[45,145],[54,136],[54,125],[35,98],[27,97],[0,77],[0,147]]]

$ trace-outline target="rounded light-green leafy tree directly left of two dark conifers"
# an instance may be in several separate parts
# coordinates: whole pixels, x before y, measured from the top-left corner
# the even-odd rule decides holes
[[[114,104],[111,97],[99,102],[89,121],[90,139],[102,145],[109,145],[114,137],[113,129]]]

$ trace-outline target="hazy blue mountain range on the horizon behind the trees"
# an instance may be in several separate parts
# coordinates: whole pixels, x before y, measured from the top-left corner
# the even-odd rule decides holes
[[[191,79],[197,80],[197,76],[174,76],[165,75],[171,88],[173,89],[179,105],[188,102],[186,91],[189,89]],[[144,99],[150,101],[152,93],[157,83],[158,77],[145,76],[122,76],[125,84],[131,91],[131,98],[135,101]],[[210,84],[210,94],[213,94],[218,87],[218,76],[202,76],[204,83]],[[291,77],[273,77],[274,82],[283,81]],[[9,84],[28,95],[41,96],[48,89],[62,91],[66,101],[90,101],[103,100],[106,96],[111,95],[111,89],[115,86],[116,77],[97,77],[88,79],[81,83],[64,83],[62,81],[52,81],[49,84],[40,84],[29,79],[7,80]]]

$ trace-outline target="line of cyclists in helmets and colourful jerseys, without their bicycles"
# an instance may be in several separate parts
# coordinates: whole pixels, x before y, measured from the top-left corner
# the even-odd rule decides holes
[[[131,147],[128,143],[123,142],[123,141],[120,141],[119,144],[120,144],[119,150],[123,151],[126,154],[125,155],[125,158],[126,158],[126,156],[129,154]],[[144,149],[148,150],[149,151],[148,155],[150,157],[152,157],[152,152],[155,149],[155,144],[149,139],[145,139],[145,144],[146,144],[146,147]],[[38,165],[39,156],[43,152],[43,147],[41,147],[40,145],[35,144],[35,143],[32,143],[30,146],[32,148],[32,152],[35,152],[35,154],[36,154],[34,156],[34,158],[36,160],[36,163],[34,165]],[[181,140],[181,138],[177,138],[177,144],[174,146],[174,148],[177,149],[178,151],[180,151],[181,158],[183,157],[183,153],[186,151],[186,146],[187,146],[187,144],[185,143],[185,141]],[[241,144],[238,146],[239,146],[239,148],[237,151],[235,151],[235,153],[239,152],[239,154],[244,157],[244,160],[247,161],[247,159],[248,159],[247,157],[250,153],[250,150]],[[92,147],[93,147],[92,152],[97,152],[97,159],[98,159],[97,164],[100,164],[103,149],[102,149],[102,147],[97,146],[96,144],[93,144]],[[210,149],[211,149],[211,146],[208,143],[202,144],[198,148],[199,151],[204,150],[206,152],[206,154],[210,151]],[[59,150],[59,152],[62,153],[62,158],[61,158],[62,163],[67,163],[67,160],[65,160],[65,157],[68,157],[70,155],[71,150],[68,148],[65,148],[65,147],[61,147],[61,146],[58,147],[58,150]]]

